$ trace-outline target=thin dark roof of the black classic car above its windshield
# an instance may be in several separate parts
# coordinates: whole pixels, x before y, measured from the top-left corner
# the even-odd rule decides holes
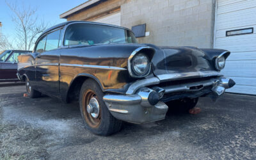
[[[57,24],[55,26],[52,26],[51,28],[48,28],[46,29],[39,37],[41,37],[42,35],[44,35],[45,33],[53,30],[53,29],[56,29],[56,28],[61,28],[63,26],[66,26],[67,24],[70,24],[70,23],[87,23],[87,24],[98,24],[98,25],[103,25],[103,26],[111,26],[111,27],[115,27],[115,28],[122,28],[122,29],[127,29],[127,30],[130,30],[129,28],[124,28],[124,27],[121,27],[121,26],[115,26],[115,25],[112,25],[112,24],[104,24],[104,23],[99,23],[99,22],[90,22],[90,21],[84,21],[84,20],[70,20],[70,21],[67,21],[67,22],[62,22],[60,24]]]

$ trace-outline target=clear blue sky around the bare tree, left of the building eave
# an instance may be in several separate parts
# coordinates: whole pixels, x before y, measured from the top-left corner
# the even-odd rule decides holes
[[[51,26],[65,22],[66,19],[60,19],[60,14],[84,3],[86,0],[7,0],[8,3],[16,3],[17,6],[31,6],[37,8],[36,14],[39,18],[49,22]],[[5,3],[0,0],[0,22],[2,22],[2,33],[12,41],[15,36],[15,26],[12,22],[12,12]],[[49,26],[49,27],[51,27]]]

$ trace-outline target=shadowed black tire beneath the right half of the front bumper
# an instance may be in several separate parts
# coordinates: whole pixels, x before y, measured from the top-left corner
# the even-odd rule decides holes
[[[196,104],[198,102],[198,98],[195,99],[179,99],[179,100],[172,100],[169,102],[166,102],[168,106],[168,114],[173,112],[189,112],[189,109],[195,108]]]

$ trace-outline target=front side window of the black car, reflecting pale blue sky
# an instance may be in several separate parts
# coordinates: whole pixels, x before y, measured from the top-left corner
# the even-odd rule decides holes
[[[49,33],[46,38],[45,51],[51,51],[53,49],[58,49],[60,40],[60,29]]]

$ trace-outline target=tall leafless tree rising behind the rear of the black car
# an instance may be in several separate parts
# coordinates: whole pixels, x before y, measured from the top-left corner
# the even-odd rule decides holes
[[[22,8],[7,1],[5,3],[13,12],[12,20],[16,26],[17,47],[30,50],[35,44],[37,36],[47,28],[47,24],[43,20],[38,20],[35,8],[30,6]]]

